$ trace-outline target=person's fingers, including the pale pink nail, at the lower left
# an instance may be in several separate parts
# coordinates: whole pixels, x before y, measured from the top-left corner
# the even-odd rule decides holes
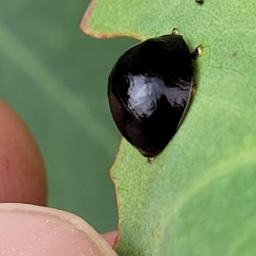
[[[2,99],[0,120],[0,254],[117,255],[117,231],[101,236],[73,213],[44,207],[44,162],[31,132]]]

